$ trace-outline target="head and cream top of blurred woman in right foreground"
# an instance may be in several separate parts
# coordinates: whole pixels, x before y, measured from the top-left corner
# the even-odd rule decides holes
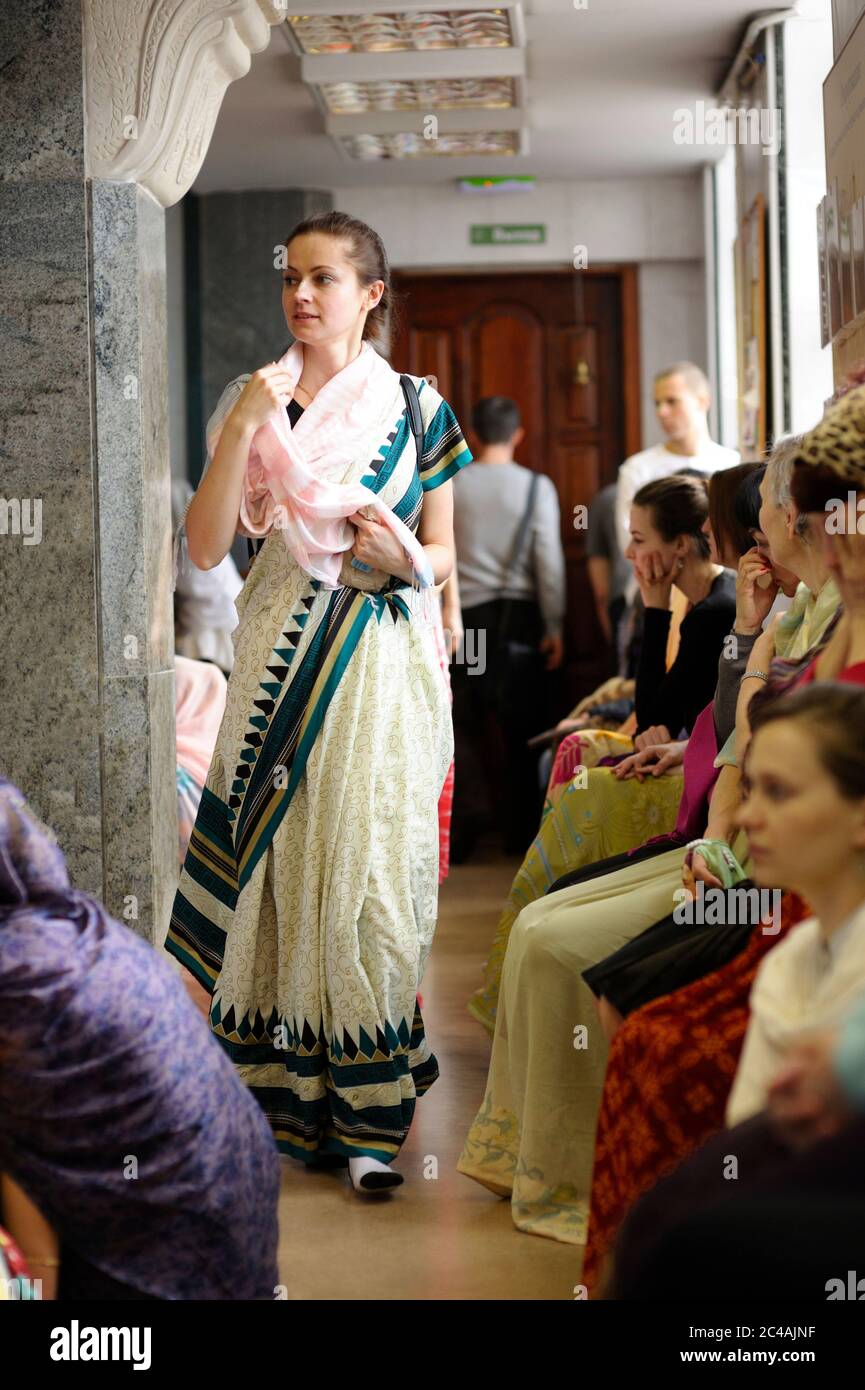
[[[755,881],[798,892],[814,916],[758,970],[729,1125],[762,1111],[790,1048],[837,1027],[865,991],[861,685],[820,682],[755,714],[745,785],[738,823]]]

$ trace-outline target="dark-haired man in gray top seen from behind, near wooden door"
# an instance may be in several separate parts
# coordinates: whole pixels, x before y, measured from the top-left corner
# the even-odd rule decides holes
[[[453,666],[453,863],[469,858],[491,821],[506,853],[522,853],[531,842],[542,794],[538,755],[526,744],[549,721],[545,673],[558,670],[563,656],[565,553],[555,485],[513,459],[524,438],[513,400],[483,398],[471,425],[480,450],[453,481],[466,631]]]

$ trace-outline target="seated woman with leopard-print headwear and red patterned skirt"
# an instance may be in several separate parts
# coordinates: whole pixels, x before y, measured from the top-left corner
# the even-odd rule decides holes
[[[809,518],[815,549],[819,542],[823,563],[844,602],[840,621],[825,651],[801,677],[802,682],[833,678],[865,682],[865,667],[859,664],[865,659],[865,592],[861,581],[865,539],[827,535],[825,513],[819,514],[826,499],[837,496],[841,488],[839,474],[846,468],[848,450],[839,450],[839,434],[855,436],[857,428],[861,430],[858,456],[865,456],[864,406],[864,386],[843,395],[820,424],[804,436],[791,460],[791,502],[801,514],[818,513]],[[844,489],[854,485],[847,474],[843,477]],[[865,475],[861,485],[865,489]],[[759,644],[752,663],[765,669],[765,651],[759,652]],[[839,677],[839,673],[843,676]],[[748,685],[759,684],[755,680],[743,685],[743,702],[747,702]],[[758,692],[751,698],[751,708],[757,710],[769,696],[768,688]],[[745,716],[748,713],[745,708]],[[713,834],[712,827],[709,834]],[[636,1012],[629,1013],[615,1034],[598,1118],[584,1269],[584,1282],[590,1286],[627,1208],[722,1125],[748,1020],[748,995],[755,972],[766,952],[802,915],[798,899],[784,895],[777,934],[765,934],[755,927],[744,949],[726,965],[684,987],[676,986],[674,976],[665,979],[663,970],[656,970],[656,962],[649,956],[633,963],[630,979],[627,962],[619,970],[615,962],[605,962],[608,979],[602,981],[604,988],[613,991],[613,1002],[622,1006],[622,1012],[627,1012],[629,1006]],[[665,983],[673,992],[663,991]],[[641,998],[649,1002],[637,1006]]]

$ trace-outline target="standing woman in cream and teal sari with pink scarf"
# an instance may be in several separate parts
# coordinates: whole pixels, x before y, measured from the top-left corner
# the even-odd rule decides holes
[[[389,296],[377,234],[312,218],[285,261],[296,341],[223,392],[186,517],[203,567],[238,528],[266,539],[167,948],[211,995],[280,1151],[384,1188],[438,1074],[416,1001],[453,755],[432,603],[471,455],[438,392],[373,348]]]

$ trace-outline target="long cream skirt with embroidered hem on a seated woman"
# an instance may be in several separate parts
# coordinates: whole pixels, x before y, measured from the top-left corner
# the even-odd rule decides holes
[[[772,471],[770,460],[768,477]],[[752,659],[766,666],[772,641],[768,634]],[[798,677],[784,663],[773,666],[773,678],[782,685]],[[706,720],[711,769],[712,706],[698,724]],[[688,758],[693,745],[694,739]],[[704,756],[702,748],[698,755]],[[697,781],[702,777],[698,764]],[[712,809],[719,787],[720,780]],[[687,790],[686,763],[683,802]],[[704,819],[700,828],[705,824]],[[583,1244],[587,1234],[606,1063],[606,1037],[581,972],[672,912],[683,884],[681,841],[654,858],[636,855],[624,866],[613,863],[613,872],[597,866],[595,874],[531,903],[515,923],[502,972],[487,1093],[458,1165],[491,1190],[512,1195],[513,1219],[522,1230],[574,1244]],[[651,1094],[645,1074],[642,1086]],[[638,1138],[634,1131],[634,1145]]]

